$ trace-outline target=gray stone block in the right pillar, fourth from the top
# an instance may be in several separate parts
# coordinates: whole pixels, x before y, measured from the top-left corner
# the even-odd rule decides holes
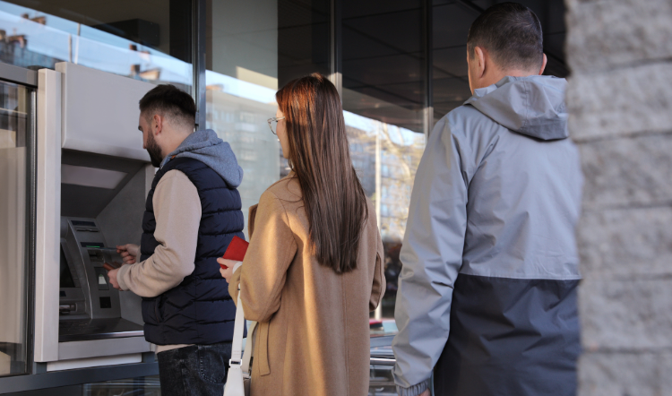
[[[577,231],[586,278],[672,275],[672,207],[589,211]]]

